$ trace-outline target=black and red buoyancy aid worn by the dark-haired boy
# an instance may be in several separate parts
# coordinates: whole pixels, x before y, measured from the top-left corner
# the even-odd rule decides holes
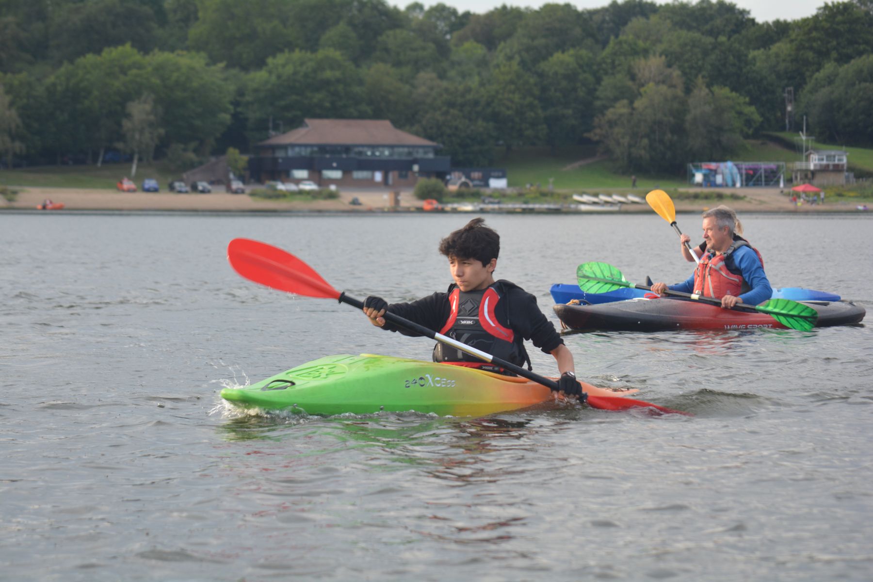
[[[449,288],[449,318],[440,333],[517,366],[530,366],[524,338],[498,320],[499,313],[506,325],[510,325],[507,291],[512,286],[515,285],[500,280],[479,291],[461,291],[452,284]],[[434,346],[433,359],[435,362],[502,372],[499,366],[441,343]]]

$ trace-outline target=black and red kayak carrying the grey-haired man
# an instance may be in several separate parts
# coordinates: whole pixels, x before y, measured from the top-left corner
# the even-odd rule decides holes
[[[816,327],[860,323],[866,311],[851,301],[803,301],[816,312]],[[761,312],[722,309],[718,305],[677,298],[629,299],[599,305],[555,305],[560,321],[573,330],[663,332],[677,329],[787,329]]]

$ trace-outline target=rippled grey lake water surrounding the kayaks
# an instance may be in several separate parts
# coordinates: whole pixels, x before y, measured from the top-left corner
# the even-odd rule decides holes
[[[238,277],[230,239],[400,301],[445,289],[436,245],[470,217],[0,214],[0,579],[873,579],[870,325],[565,336],[581,378],[693,417],[223,405],[323,355],[431,348]],[[868,216],[741,219],[774,286],[870,311]],[[577,264],[692,269],[654,213],[487,221],[497,276],[556,325]]]

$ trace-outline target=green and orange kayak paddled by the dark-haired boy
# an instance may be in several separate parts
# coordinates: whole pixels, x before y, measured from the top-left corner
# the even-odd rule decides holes
[[[626,396],[582,382],[590,395]],[[238,407],[299,414],[372,414],[380,411],[478,416],[552,400],[547,388],[517,376],[463,366],[371,353],[315,359],[257,384],[224,388]]]

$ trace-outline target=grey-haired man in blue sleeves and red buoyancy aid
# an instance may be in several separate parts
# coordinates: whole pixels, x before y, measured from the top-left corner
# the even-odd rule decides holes
[[[736,215],[725,207],[703,213],[706,251],[691,277],[683,283],[653,284],[651,290],[663,295],[667,289],[721,299],[731,309],[738,303],[759,305],[773,294],[760,254],[745,240],[734,240]]]

